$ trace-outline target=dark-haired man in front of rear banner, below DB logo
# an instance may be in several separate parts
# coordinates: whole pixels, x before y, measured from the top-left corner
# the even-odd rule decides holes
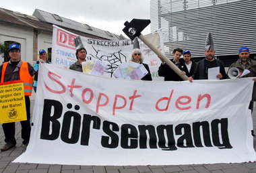
[[[86,48],[77,49],[75,52],[77,61],[71,64],[71,66],[69,66],[69,69],[83,72],[82,62],[86,62],[86,54],[87,54]]]

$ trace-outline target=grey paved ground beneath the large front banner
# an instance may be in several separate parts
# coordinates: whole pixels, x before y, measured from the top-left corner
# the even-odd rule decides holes
[[[31,105],[34,105],[34,93],[31,96]],[[256,105],[256,104],[255,104]],[[253,125],[256,129],[256,107],[253,112]],[[256,172],[256,162],[243,164],[198,164],[198,165],[183,165],[183,166],[67,166],[67,165],[49,165],[49,164],[16,164],[11,163],[15,158],[20,156],[25,151],[25,146],[22,145],[20,135],[20,123],[16,123],[16,148],[7,152],[0,152],[0,172],[94,172],[94,173],[136,173],[136,172]],[[3,146],[3,129],[0,127],[0,146]],[[254,141],[255,143],[255,141]]]

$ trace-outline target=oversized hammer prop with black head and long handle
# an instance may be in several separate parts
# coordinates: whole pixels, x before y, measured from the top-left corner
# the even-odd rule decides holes
[[[141,32],[150,24],[149,19],[132,19],[129,23],[128,21],[125,21],[125,28],[123,29],[123,32],[131,39],[133,40],[135,37],[138,37],[144,44],[148,46],[155,54],[158,55],[158,57],[162,57],[163,61],[172,69],[174,72],[176,72],[183,80],[188,80],[188,77],[186,75],[181,74],[181,70],[173,64],[158,48],[156,48],[153,44],[151,44],[142,34]]]

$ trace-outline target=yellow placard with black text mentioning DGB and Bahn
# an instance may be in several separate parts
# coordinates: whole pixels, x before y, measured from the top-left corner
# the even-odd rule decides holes
[[[27,120],[23,83],[0,86],[0,123]]]

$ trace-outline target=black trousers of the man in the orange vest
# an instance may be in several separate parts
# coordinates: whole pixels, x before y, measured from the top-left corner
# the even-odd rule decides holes
[[[26,121],[20,121],[20,124],[22,125],[22,141],[23,144],[26,144],[30,141],[30,97],[25,96],[25,103],[26,103],[26,113],[27,113],[27,120]],[[16,144],[15,139],[15,122],[13,123],[3,123],[3,133],[5,133],[5,142],[11,142],[13,144]]]

